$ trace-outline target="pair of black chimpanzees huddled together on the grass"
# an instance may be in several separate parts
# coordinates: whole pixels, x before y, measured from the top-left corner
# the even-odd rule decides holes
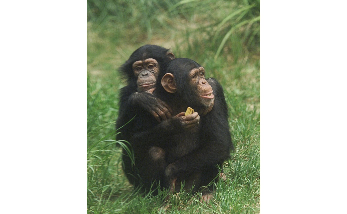
[[[120,92],[116,128],[123,126],[117,140],[133,150],[122,154],[129,182],[155,195],[158,188],[179,191],[181,183],[198,191],[225,177],[219,169],[233,145],[221,85],[205,79],[195,61],[155,45],[135,50],[120,71],[128,85]],[[195,113],[184,116],[187,107]],[[213,185],[205,188],[202,200],[212,193]]]

